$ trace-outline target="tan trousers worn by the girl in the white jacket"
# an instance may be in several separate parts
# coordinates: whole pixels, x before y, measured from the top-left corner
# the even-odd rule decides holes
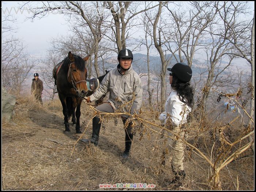
[[[172,129],[170,129],[170,131],[176,133],[177,135],[179,135],[181,138],[183,138],[184,136],[184,131],[179,127],[172,127]],[[174,137],[174,139],[168,138],[168,147],[169,147],[169,151],[171,152],[171,156],[172,156],[172,170],[173,172],[178,172],[180,170],[184,170],[183,167],[183,159],[184,159],[184,150],[185,150],[185,146],[184,144],[181,142],[181,139],[179,139],[177,136],[173,135],[172,133],[168,132],[167,133],[169,136]]]

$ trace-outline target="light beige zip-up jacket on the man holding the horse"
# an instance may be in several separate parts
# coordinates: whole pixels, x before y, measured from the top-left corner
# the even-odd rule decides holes
[[[90,96],[90,101],[99,99],[110,91],[108,102],[111,103],[114,110],[121,112],[130,112],[133,114],[140,110],[142,106],[142,84],[139,75],[131,67],[122,75],[119,72],[120,64],[116,69],[112,69],[102,80],[99,89]],[[128,105],[121,108],[125,102],[132,99],[135,94],[135,99],[132,106]],[[129,111],[130,110],[130,111]],[[127,117],[127,116],[126,116]]]

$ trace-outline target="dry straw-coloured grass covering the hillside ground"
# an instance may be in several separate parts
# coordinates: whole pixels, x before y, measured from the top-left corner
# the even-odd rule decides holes
[[[74,148],[80,135],[75,134],[75,127],[71,124],[71,135],[64,134],[59,99],[44,102],[44,106],[29,97],[17,98],[17,102],[15,124],[2,121],[2,189],[98,190],[99,184],[141,182],[155,184],[154,190],[174,190],[172,185],[164,182],[165,178],[172,178],[173,173],[168,153],[165,166],[162,165],[165,137],[161,138],[160,134],[145,128],[138,130],[133,138],[131,158],[124,160],[120,156],[125,135],[120,118],[117,126],[114,118],[105,118],[105,129],[101,129],[98,147],[77,142]],[[144,113],[142,116],[153,121],[158,114]],[[82,103],[82,132],[91,117],[93,111]],[[155,123],[159,124],[158,120]],[[161,132],[160,128],[148,126]],[[90,133],[91,123],[83,138],[89,138]],[[233,127],[231,136],[237,135],[239,127]],[[188,141],[194,142],[192,137]],[[205,154],[210,154],[210,136],[199,138],[197,145]],[[248,150],[243,155],[250,153]],[[188,154],[187,147],[184,162],[187,176],[183,187],[177,190],[212,190],[207,182],[209,164],[194,153]],[[236,190],[238,178],[240,190],[254,190],[253,160],[239,159],[230,163],[228,169],[223,169],[222,189]]]

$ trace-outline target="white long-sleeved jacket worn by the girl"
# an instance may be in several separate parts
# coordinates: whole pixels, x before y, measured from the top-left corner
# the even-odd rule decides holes
[[[170,118],[173,125],[184,124],[187,122],[189,112],[191,112],[191,107],[179,99],[177,91],[172,91],[165,102],[165,111],[160,114],[159,120],[161,124],[166,124],[167,119]]]

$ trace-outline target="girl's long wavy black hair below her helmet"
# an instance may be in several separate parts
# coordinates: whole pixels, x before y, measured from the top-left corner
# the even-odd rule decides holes
[[[177,91],[177,94],[180,98],[180,101],[192,108],[193,106],[193,87],[190,85],[190,82],[182,82],[176,76],[173,75],[173,82],[171,87]]]

